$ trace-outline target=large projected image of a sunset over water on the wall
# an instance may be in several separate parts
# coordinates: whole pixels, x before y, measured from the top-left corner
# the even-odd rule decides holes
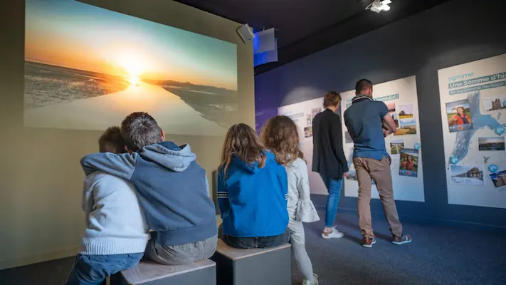
[[[73,0],[26,0],[25,126],[105,130],[145,111],[167,134],[222,135],[237,46]]]

